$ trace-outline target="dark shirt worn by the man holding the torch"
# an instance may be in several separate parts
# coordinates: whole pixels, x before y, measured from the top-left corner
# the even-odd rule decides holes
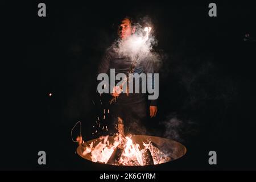
[[[115,75],[118,73],[125,73],[127,75],[133,68],[133,65],[133,73],[154,73],[153,64],[151,61],[147,60],[146,56],[143,60],[139,61],[139,63],[135,63],[130,59],[129,56],[119,54],[115,48],[115,46],[112,46],[106,50],[98,67],[98,73],[107,73],[110,76],[110,69],[115,69]],[[139,79],[139,85],[142,85],[141,81],[142,80]],[[117,82],[119,81],[115,81],[115,84],[117,84]],[[140,93],[133,92],[129,93],[128,95],[126,93],[121,93],[117,98],[116,104],[122,105],[146,102],[147,95],[148,94],[141,93],[141,89]],[[156,100],[150,100],[150,105],[156,106]]]

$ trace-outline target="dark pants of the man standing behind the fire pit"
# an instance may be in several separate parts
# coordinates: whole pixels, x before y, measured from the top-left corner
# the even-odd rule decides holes
[[[149,106],[146,102],[139,102],[138,104],[112,104],[110,105],[110,113],[112,122],[112,130],[115,130],[115,124],[117,123],[117,117],[122,118],[123,124],[125,125],[125,134],[146,134],[145,122],[147,121]]]

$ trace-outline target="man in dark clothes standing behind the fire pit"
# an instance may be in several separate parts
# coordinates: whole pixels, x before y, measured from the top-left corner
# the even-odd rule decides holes
[[[136,31],[135,26],[130,18],[123,18],[119,22],[118,36],[119,42],[125,42]],[[110,69],[115,69],[117,73],[154,73],[153,65],[150,61],[142,61],[135,64],[129,56],[119,55],[116,51],[117,44],[113,44],[108,48],[98,68],[98,73],[109,73]],[[113,121],[120,122],[120,118],[125,125],[125,132],[145,134],[142,123],[146,121],[147,116],[155,117],[158,107],[156,100],[147,102],[146,94],[142,93],[121,93],[119,86],[113,88],[113,99],[110,104],[110,112],[112,113]],[[119,119],[118,119],[119,118]]]

